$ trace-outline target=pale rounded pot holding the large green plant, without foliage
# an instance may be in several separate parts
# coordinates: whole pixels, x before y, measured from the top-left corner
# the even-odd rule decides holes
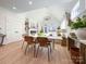
[[[78,28],[75,30],[77,39],[86,40],[86,28]]]

